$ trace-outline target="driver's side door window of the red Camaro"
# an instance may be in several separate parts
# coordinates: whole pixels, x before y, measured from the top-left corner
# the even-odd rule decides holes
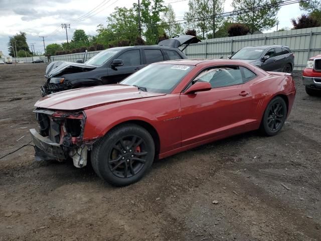
[[[242,74],[238,66],[216,66],[202,71],[194,82],[203,81],[212,88],[242,84]]]

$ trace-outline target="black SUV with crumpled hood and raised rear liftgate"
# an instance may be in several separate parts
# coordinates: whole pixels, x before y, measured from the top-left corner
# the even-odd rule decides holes
[[[185,44],[186,48],[189,44],[198,42],[200,40],[194,36],[182,35],[163,40],[158,45],[106,49],[87,61],[86,52],[84,60],[77,63],[51,62],[46,69],[47,81],[41,86],[41,95],[79,87],[118,83],[148,64],[187,59],[178,47]]]

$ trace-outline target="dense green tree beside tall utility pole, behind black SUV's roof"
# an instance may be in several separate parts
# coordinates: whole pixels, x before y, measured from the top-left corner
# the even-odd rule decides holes
[[[134,4],[134,10],[137,13],[137,4]],[[157,44],[159,36],[163,35],[164,27],[159,26],[162,23],[161,14],[166,11],[164,0],[142,0],[140,4],[141,23],[146,27],[143,35],[146,38],[146,44]]]

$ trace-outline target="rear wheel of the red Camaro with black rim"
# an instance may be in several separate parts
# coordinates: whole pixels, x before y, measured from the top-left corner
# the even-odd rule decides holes
[[[267,105],[260,130],[267,136],[276,135],[284,125],[287,109],[284,99],[280,96],[273,98]]]

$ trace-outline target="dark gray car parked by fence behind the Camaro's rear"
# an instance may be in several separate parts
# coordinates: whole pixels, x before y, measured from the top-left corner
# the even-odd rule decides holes
[[[265,71],[291,73],[294,67],[294,54],[281,45],[245,47],[229,58],[245,60]]]

